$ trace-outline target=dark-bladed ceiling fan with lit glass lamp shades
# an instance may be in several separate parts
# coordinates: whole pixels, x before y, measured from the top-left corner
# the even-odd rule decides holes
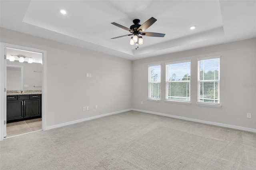
[[[134,23],[134,25],[130,26],[130,28],[127,28],[125,26],[122,26],[120,24],[112,22],[111,24],[118,26],[119,28],[122,28],[124,30],[129,31],[131,34],[127,34],[124,36],[119,36],[119,37],[115,37],[115,38],[111,38],[111,39],[116,39],[116,38],[133,35],[132,38],[130,39],[130,44],[134,45],[134,43],[136,43],[136,45],[138,45],[138,44],[141,45],[141,44],[143,44],[142,36],[148,36],[148,37],[164,37],[165,36],[165,34],[156,33],[156,32],[144,32],[147,28],[149,28],[150,26],[152,26],[152,24],[154,24],[156,22],[156,19],[153,17],[151,17],[149,20],[144,22],[142,25],[140,25],[139,19],[135,19],[132,22]]]

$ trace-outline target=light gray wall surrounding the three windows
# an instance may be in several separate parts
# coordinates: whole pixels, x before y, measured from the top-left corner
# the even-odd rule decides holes
[[[197,58],[221,55],[221,108],[196,105]],[[165,63],[191,59],[191,105],[165,103]],[[147,101],[148,65],[161,63],[161,102]],[[132,106],[134,109],[164,113],[215,123],[256,128],[256,39],[227,43],[132,62]],[[252,86],[243,86],[252,84]],[[143,101],[143,105],[141,105]],[[246,118],[252,114],[252,119]]]

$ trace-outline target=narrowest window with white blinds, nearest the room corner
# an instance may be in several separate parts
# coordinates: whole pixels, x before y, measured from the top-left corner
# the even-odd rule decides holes
[[[161,65],[148,66],[148,98],[161,99]]]

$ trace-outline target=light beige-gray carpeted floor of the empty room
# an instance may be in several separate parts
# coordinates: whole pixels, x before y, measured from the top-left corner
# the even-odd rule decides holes
[[[256,133],[129,111],[0,142],[1,170],[255,170]]]

